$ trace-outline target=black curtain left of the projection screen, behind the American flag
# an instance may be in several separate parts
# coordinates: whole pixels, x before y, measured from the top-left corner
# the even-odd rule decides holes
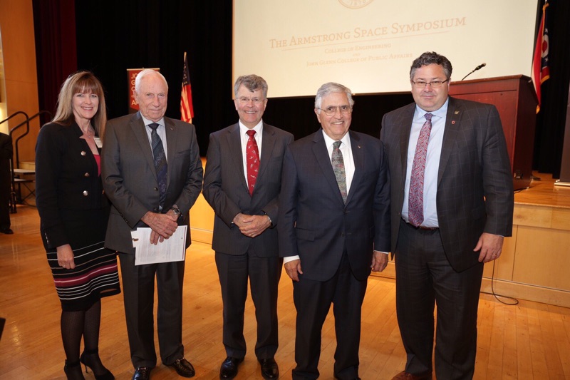
[[[128,113],[128,68],[160,68],[166,115],[180,118],[187,51],[200,153],[209,133],[235,120],[232,1],[77,1],[78,63],[105,86],[108,117]]]

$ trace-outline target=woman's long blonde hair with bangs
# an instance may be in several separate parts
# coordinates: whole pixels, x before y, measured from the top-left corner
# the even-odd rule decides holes
[[[68,76],[58,96],[58,109],[56,115],[51,120],[53,123],[61,125],[71,125],[75,120],[73,115],[73,96],[76,93],[94,93],[99,98],[97,113],[91,120],[91,125],[95,133],[103,140],[105,134],[105,124],[107,123],[107,108],[105,107],[105,94],[103,85],[90,71],[78,71]]]

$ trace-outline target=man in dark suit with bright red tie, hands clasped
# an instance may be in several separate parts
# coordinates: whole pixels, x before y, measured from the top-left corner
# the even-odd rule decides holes
[[[277,202],[281,165],[291,133],[261,120],[267,83],[256,75],[234,85],[239,122],[210,135],[204,198],[216,214],[212,249],[222,287],[223,342],[227,358],[220,379],[233,379],[246,354],[244,309],[249,278],[257,319],[255,355],[264,379],[277,379],[274,359],[277,287],[282,264],[277,250]]]

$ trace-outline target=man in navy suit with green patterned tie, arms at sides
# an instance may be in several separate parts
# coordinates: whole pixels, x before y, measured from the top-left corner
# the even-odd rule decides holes
[[[358,378],[361,306],[368,275],[390,250],[388,163],[377,138],[349,130],[350,89],[325,83],[321,129],[289,145],[279,197],[279,254],[297,310],[293,379],[316,379],[321,329],[333,306],[334,376]]]

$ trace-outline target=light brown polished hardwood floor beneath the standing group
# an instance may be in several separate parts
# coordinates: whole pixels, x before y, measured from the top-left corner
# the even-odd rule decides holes
[[[14,235],[0,234],[0,317],[6,326],[0,340],[1,379],[65,379],[59,332],[60,304],[53,287],[33,207],[19,205],[11,215]],[[283,273],[279,295],[280,346],[276,354],[281,379],[294,367],[295,308],[292,287]],[[194,242],[187,252],[184,325],[185,356],[197,379],[218,379],[225,357],[222,300],[209,245]],[[481,294],[475,379],[570,379],[570,309],[537,302],[502,304]],[[261,379],[253,354],[256,323],[248,299],[245,335],[249,345],[237,380]],[[333,379],[336,346],[333,317],[323,326],[321,379]],[[103,299],[100,356],[116,379],[130,379],[122,295]],[[391,379],[403,369],[405,352],[395,315],[395,282],[371,277],[363,305],[360,350],[362,379]],[[160,364],[160,359],[159,359]],[[152,379],[180,379],[159,365]],[[92,373],[86,379],[94,379]]]

